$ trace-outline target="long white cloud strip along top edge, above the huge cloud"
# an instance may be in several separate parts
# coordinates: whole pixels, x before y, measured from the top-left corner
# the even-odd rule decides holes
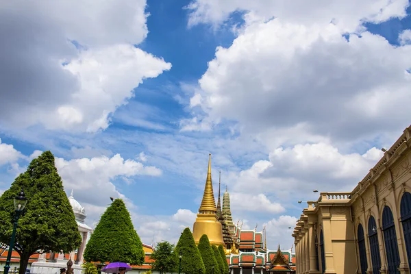
[[[233,12],[243,12],[247,23],[276,17],[287,18],[290,23],[301,25],[325,25],[332,22],[344,32],[352,32],[363,21],[379,23],[392,17],[404,17],[409,4],[408,0],[192,0],[187,8],[190,10],[189,25],[220,25],[227,21]],[[353,9],[353,6],[356,8]]]

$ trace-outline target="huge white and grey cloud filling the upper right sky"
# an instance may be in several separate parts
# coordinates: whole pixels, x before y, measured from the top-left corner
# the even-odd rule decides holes
[[[369,32],[347,40],[333,24],[256,23],[217,48],[199,80],[201,107],[283,143],[297,127],[309,142],[397,131],[408,125],[410,51]]]

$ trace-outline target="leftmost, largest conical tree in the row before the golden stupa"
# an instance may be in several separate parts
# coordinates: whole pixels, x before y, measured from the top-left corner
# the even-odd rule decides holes
[[[197,249],[188,227],[184,229],[182,236],[180,236],[174,252],[182,255],[182,273],[204,274],[206,271],[199,249]]]

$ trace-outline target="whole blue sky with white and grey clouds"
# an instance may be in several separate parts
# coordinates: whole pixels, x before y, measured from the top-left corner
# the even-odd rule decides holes
[[[234,222],[290,249],[304,203],[351,191],[411,125],[406,0],[0,4],[0,193],[42,151],[95,227],[192,229],[208,154]],[[217,198],[217,197],[216,197]]]

